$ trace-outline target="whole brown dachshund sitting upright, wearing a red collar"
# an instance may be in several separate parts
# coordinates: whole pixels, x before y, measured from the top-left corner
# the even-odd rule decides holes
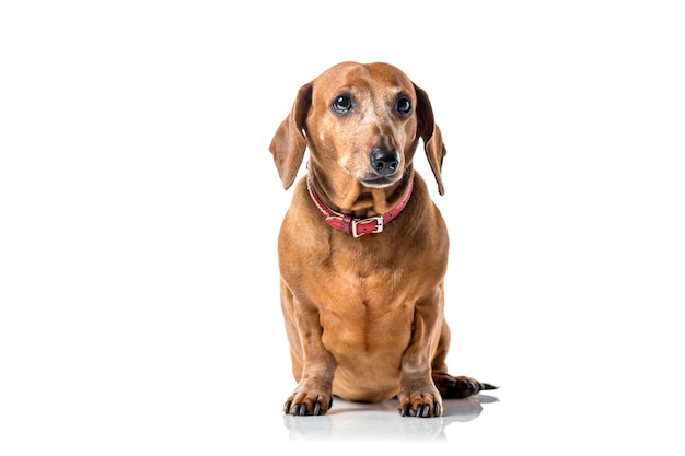
[[[419,139],[442,195],[428,95],[391,65],[356,62],[304,84],[274,136],[286,189],[310,151],[278,238],[298,381],[286,413],[397,397],[402,416],[438,417],[442,398],[494,388],[446,374],[448,230],[413,166]]]

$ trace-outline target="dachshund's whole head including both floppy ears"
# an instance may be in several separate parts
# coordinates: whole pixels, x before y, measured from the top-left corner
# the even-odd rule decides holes
[[[269,150],[286,189],[307,147],[312,166],[384,188],[410,169],[419,138],[443,195],[446,151],[426,92],[391,65],[342,62],[300,89]]]

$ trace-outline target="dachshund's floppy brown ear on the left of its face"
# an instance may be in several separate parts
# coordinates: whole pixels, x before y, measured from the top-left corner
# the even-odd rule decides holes
[[[306,138],[304,137],[304,121],[312,106],[312,83],[300,87],[292,110],[281,122],[271,139],[269,151],[274,154],[274,163],[278,175],[288,189],[292,185],[302,164]]]

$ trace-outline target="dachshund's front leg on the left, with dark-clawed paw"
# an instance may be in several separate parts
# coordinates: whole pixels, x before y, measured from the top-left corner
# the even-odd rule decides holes
[[[325,414],[333,404],[333,374],[336,362],[322,342],[318,311],[312,306],[285,303],[287,319],[297,328],[291,338],[293,373],[298,387],[283,406],[287,414]],[[289,305],[290,304],[290,305]],[[288,315],[290,314],[290,315]],[[298,339],[298,340],[293,340]]]

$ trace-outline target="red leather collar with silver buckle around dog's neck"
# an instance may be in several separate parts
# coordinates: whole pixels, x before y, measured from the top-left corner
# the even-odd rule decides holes
[[[390,223],[394,218],[399,214],[399,212],[402,212],[402,210],[407,206],[407,202],[409,202],[409,198],[411,198],[414,180],[409,183],[409,189],[407,190],[407,194],[402,199],[402,201],[399,201],[399,204],[395,206],[394,209],[392,209],[390,212],[385,212],[383,215],[370,217],[368,219],[352,219],[351,215],[345,215],[328,208],[322,202],[322,200],[314,191],[314,187],[312,186],[312,180],[310,176],[306,176],[306,189],[310,192],[310,197],[312,197],[314,206],[316,207],[316,209],[318,209],[318,212],[321,212],[326,218],[326,223],[328,225],[346,234],[351,234],[355,237],[359,237],[369,233],[382,232],[383,226],[386,223]]]

